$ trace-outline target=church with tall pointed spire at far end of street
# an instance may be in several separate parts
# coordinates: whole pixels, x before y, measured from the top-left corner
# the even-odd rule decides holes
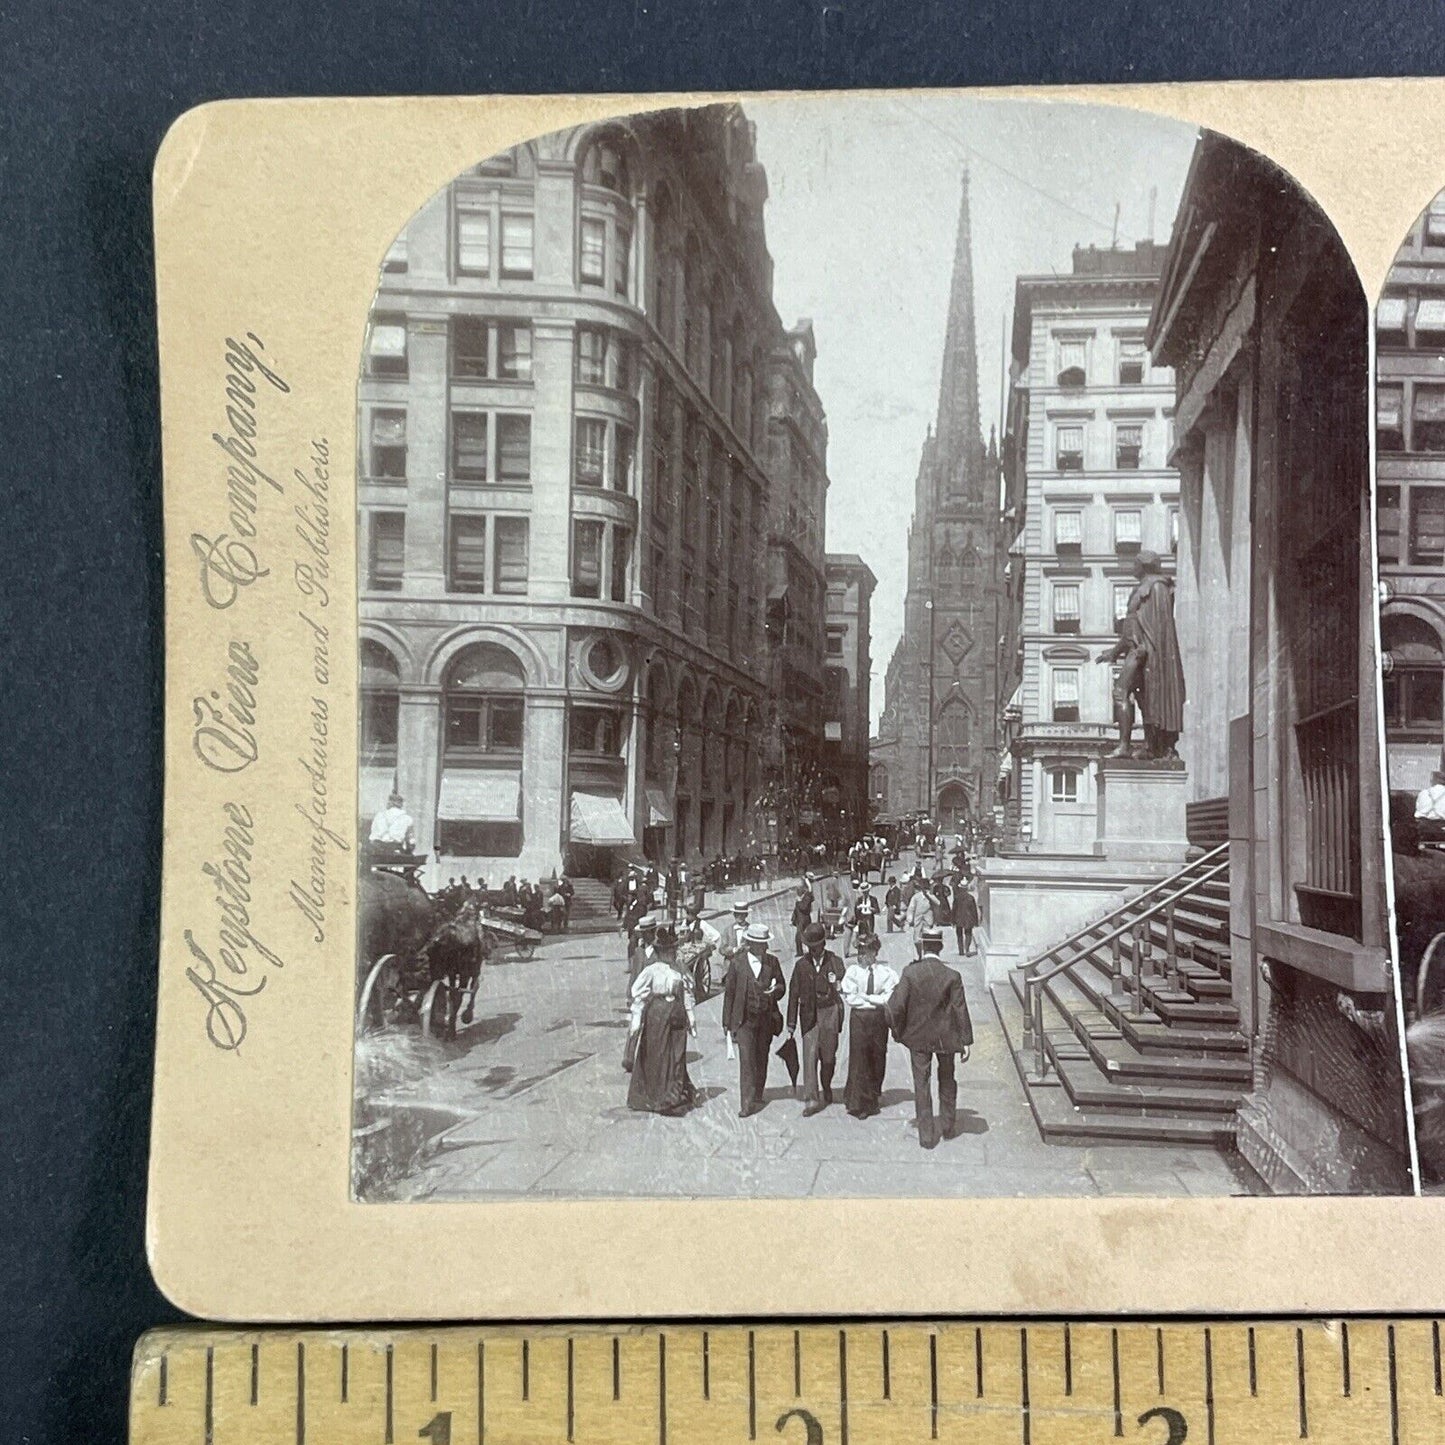
[[[998,772],[998,458],[978,423],[974,263],[964,172],[938,420],[923,442],[903,636],[871,749],[876,806],[945,829],[990,815]],[[880,796],[881,795],[881,796]]]

